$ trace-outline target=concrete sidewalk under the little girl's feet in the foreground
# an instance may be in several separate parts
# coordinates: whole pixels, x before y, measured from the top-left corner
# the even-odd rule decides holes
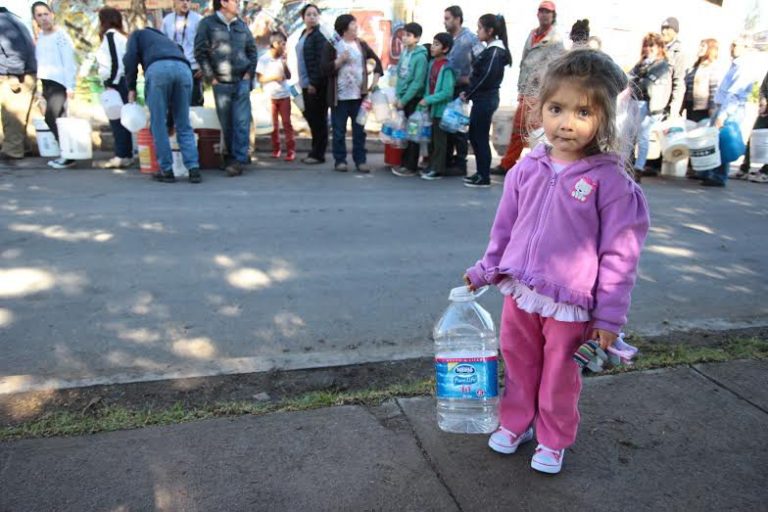
[[[563,473],[431,398],[0,444],[0,510],[765,510],[768,362],[585,380]]]

